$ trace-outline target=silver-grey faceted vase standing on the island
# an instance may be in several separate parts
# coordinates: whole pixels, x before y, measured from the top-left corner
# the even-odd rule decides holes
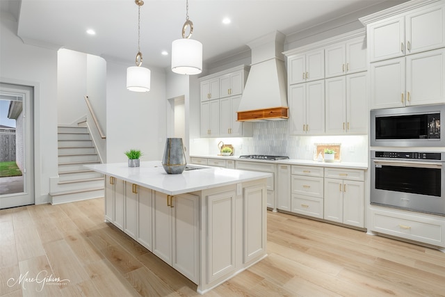
[[[182,138],[167,138],[162,159],[162,167],[165,172],[177,175],[184,171],[186,165],[186,154],[184,153]]]

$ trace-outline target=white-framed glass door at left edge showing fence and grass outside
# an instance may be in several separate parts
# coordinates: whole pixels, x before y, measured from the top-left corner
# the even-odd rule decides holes
[[[0,83],[0,209],[34,204],[33,88]]]

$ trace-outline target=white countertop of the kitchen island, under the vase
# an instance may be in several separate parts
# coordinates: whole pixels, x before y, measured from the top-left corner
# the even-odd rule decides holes
[[[238,182],[270,177],[270,173],[207,166],[194,166],[204,169],[184,170],[179,175],[169,175],[161,161],[140,162],[140,167],[128,167],[128,163],[106,163],[84,165],[86,168],[111,175],[126,182],[151,188],[168,195],[178,195],[201,191],[206,188],[227,186]]]

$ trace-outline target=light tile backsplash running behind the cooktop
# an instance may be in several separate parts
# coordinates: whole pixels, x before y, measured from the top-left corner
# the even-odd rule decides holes
[[[270,154],[291,159],[312,160],[315,143],[341,143],[341,161],[368,160],[367,135],[289,136],[289,121],[254,122],[253,136],[240,138],[197,138],[191,141],[191,155],[218,155],[218,143],[234,147],[234,154]]]

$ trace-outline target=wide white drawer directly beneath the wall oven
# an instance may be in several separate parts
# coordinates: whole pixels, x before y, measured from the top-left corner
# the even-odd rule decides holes
[[[440,220],[371,209],[371,221],[375,232],[445,246],[445,222]]]

